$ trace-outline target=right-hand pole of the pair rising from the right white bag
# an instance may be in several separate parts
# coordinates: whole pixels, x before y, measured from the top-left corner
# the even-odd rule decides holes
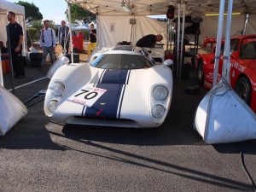
[[[222,77],[230,84],[230,27],[232,20],[233,0],[229,0],[228,15],[226,22],[225,47],[224,47],[224,63],[222,67]]]

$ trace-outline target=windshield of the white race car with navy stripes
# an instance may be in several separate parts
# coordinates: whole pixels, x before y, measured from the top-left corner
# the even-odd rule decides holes
[[[143,55],[102,54],[90,65],[106,69],[140,69],[152,67],[153,63]]]

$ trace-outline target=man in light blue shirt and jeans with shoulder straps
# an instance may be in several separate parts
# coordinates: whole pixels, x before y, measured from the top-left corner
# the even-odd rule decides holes
[[[55,44],[55,30],[49,27],[49,20],[44,20],[44,28],[41,30],[40,35],[40,47],[43,49],[43,58],[40,68],[42,71],[44,71],[44,64],[48,53],[51,64],[55,62]]]

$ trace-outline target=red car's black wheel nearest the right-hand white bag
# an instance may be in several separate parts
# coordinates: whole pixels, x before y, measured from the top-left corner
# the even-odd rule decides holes
[[[235,87],[236,94],[241,97],[243,101],[247,103],[248,106],[251,105],[252,99],[252,86],[250,80],[246,77],[241,77],[236,81]]]

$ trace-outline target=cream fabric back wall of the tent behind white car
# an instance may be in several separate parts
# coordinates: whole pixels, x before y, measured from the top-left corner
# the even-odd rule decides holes
[[[166,43],[166,24],[147,16],[122,15],[97,17],[97,42],[102,47],[111,47],[118,42],[127,41],[134,45],[137,40],[148,34],[162,34]],[[135,19],[136,24],[131,25],[130,19]]]

